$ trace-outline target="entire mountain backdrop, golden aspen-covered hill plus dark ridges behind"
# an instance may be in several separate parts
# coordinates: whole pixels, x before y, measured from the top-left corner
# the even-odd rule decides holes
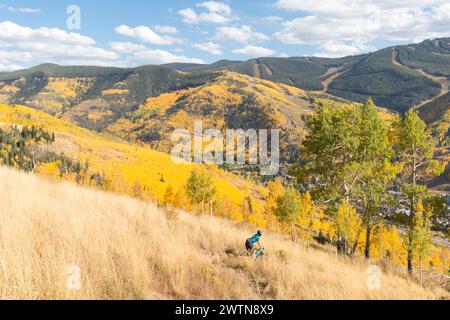
[[[385,113],[415,108],[435,131],[446,128],[448,138],[449,79],[450,38],[441,38],[336,59],[136,68],[43,64],[0,73],[0,103],[25,105],[165,152],[171,130],[189,129],[195,119],[231,128],[276,124],[283,130],[283,160],[293,162],[305,116],[322,103],[372,98]],[[448,157],[448,147],[440,154]]]

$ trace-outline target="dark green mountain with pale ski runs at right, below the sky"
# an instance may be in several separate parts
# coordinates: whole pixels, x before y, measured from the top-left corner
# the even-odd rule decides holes
[[[443,110],[429,115],[432,103],[437,98],[442,98],[439,104],[449,101],[450,38],[337,59],[259,58],[167,66],[186,72],[231,70],[358,102],[371,97],[377,105],[398,112],[418,107],[427,120],[433,121]]]

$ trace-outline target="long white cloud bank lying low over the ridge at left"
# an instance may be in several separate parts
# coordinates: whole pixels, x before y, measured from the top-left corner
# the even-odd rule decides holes
[[[41,63],[128,67],[171,62],[204,63],[201,59],[149,49],[142,43],[111,42],[99,47],[90,37],[57,28],[29,28],[0,23],[0,71]]]

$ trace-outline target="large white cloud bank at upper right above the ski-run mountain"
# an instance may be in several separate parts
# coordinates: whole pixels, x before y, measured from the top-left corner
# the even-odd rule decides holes
[[[376,41],[417,42],[450,35],[448,0],[278,0],[306,16],[284,22],[275,36],[285,44],[320,46],[339,56],[373,49]]]

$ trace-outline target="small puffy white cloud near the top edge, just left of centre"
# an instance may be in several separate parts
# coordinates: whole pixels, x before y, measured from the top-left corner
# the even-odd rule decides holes
[[[223,2],[206,1],[196,5],[199,8],[206,9],[206,12],[197,13],[192,8],[186,8],[178,11],[182,16],[183,22],[187,24],[216,23],[223,24],[232,20],[231,7]]]

